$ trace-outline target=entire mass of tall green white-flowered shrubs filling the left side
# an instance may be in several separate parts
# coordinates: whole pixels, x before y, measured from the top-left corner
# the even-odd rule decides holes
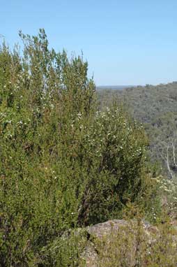
[[[0,48],[0,265],[77,266],[56,238],[137,210],[152,221],[157,173],[143,127],[99,110],[82,57],[50,50],[43,29],[20,37],[23,51]]]

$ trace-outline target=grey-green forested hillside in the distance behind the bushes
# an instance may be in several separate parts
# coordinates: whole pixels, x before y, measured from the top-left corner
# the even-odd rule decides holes
[[[177,171],[177,82],[128,89],[98,91],[100,106],[124,101],[132,116],[142,122],[148,133],[151,159],[162,165],[169,178]]]

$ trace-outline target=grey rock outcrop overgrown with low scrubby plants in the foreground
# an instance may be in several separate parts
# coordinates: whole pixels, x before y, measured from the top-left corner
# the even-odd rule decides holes
[[[176,221],[153,226],[139,219],[112,219],[67,231],[61,238],[68,240],[66,244],[71,247],[72,263],[68,266],[177,267],[176,225]],[[57,240],[59,246],[54,245],[56,250],[61,246],[61,238]]]

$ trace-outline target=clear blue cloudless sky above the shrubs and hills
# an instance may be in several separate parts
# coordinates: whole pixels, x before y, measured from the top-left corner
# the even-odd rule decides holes
[[[84,52],[96,85],[177,80],[176,0],[0,0],[0,6],[0,34],[10,46],[20,29],[34,35],[45,28],[56,50]]]

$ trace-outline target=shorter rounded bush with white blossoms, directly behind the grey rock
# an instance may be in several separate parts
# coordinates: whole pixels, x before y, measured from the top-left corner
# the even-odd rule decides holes
[[[79,214],[82,224],[122,217],[129,203],[148,212],[156,199],[156,183],[147,164],[147,138],[141,125],[123,108],[107,108],[96,113],[82,144],[88,169]]]

